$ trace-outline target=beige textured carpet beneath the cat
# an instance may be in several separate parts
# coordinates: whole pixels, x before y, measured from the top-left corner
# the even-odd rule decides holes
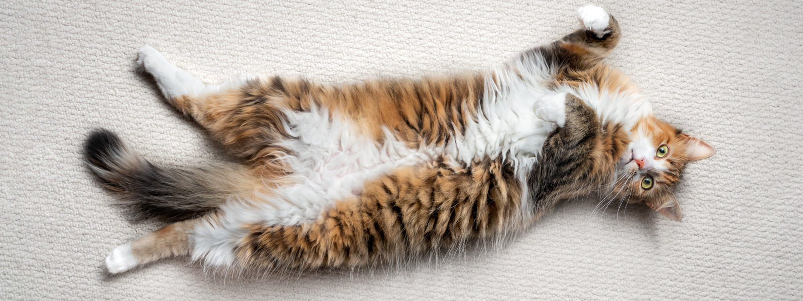
[[[0,299],[803,299],[799,1],[597,3],[622,25],[610,63],[718,148],[677,189],[683,222],[575,201],[501,250],[402,269],[220,279],[168,260],[108,277],[107,252],[158,225],[108,205],[81,164],[92,128],[157,162],[226,160],[134,71],[142,45],[209,81],[422,75],[551,42],[585,4],[171,2],[0,2]]]

